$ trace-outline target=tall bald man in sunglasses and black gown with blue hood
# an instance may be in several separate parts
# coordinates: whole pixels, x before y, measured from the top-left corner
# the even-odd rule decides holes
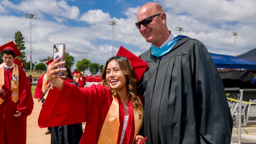
[[[144,73],[147,144],[230,144],[233,121],[222,80],[206,47],[168,31],[164,9],[149,2],[136,26],[152,46]]]

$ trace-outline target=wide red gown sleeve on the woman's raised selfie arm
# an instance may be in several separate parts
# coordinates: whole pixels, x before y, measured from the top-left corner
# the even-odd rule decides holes
[[[86,122],[88,115],[100,109],[100,99],[106,99],[104,96],[108,93],[107,89],[101,85],[79,88],[64,80],[61,92],[55,87],[50,89],[40,111],[39,127]],[[109,105],[111,102],[112,100],[109,100]]]

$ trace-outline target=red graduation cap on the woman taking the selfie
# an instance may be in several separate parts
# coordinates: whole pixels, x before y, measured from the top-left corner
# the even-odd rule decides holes
[[[126,48],[124,48],[122,46],[120,47],[119,51],[116,54],[116,56],[119,56],[119,55],[128,58],[128,60],[130,61],[130,63],[133,66],[133,71],[134,71],[135,77],[137,79],[136,83],[139,83],[141,77],[143,76],[143,74],[146,71],[147,66],[149,64],[147,64],[145,61],[143,61],[142,59],[137,57],[132,52],[126,50]]]

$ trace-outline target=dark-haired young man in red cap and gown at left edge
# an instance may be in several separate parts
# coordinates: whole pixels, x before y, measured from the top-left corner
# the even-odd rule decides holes
[[[13,63],[21,55],[14,42],[0,47],[4,63],[0,65],[0,86],[13,91],[6,100],[0,99],[0,144],[26,144],[26,120],[30,114],[26,73]],[[0,93],[3,93],[0,88]]]

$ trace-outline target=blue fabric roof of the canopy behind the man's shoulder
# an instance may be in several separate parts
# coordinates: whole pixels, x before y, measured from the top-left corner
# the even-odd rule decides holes
[[[255,69],[256,62],[223,54],[209,53],[217,68]]]

